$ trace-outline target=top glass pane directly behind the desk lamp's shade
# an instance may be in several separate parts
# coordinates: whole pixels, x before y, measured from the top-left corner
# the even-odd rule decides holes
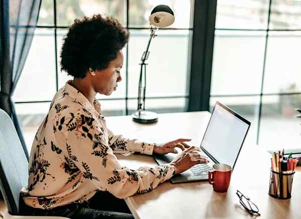
[[[140,1],[129,0],[129,27],[149,27],[148,17],[158,5],[171,7],[175,15],[175,23],[169,28],[191,28],[191,0]]]

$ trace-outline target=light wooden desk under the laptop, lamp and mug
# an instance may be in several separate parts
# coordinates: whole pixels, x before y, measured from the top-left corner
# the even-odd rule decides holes
[[[157,124],[140,125],[130,116],[106,117],[114,133],[147,141],[165,142],[179,137],[192,138],[200,145],[210,118],[208,112],[160,114]],[[120,125],[122,124],[122,125]],[[152,156],[118,155],[130,168],[155,166]],[[125,199],[135,218],[251,218],[239,203],[236,189],[248,195],[259,207],[259,218],[301,217],[301,168],[294,174],[291,198],[278,200],[268,195],[270,155],[246,142],[236,163],[228,192],[213,191],[208,182],[160,184],[152,192]]]

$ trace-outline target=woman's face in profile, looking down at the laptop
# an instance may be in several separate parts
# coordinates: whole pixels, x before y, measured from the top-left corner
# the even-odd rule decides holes
[[[117,89],[117,82],[122,80],[120,69],[123,65],[123,54],[121,51],[117,53],[116,59],[109,63],[109,66],[103,70],[96,70],[96,75],[93,77],[94,89],[97,93],[111,95]]]

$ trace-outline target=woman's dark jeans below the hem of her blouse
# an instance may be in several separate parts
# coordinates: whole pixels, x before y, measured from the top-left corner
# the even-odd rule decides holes
[[[23,199],[22,199],[23,200]],[[85,203],[72,203],[53,209],[44,210],[20,203],[22,215],[34,216],[65,216],[71,219],[100,219],[100,218],[134,218],[125,201],[116,198],[107,191],[98,191]]]

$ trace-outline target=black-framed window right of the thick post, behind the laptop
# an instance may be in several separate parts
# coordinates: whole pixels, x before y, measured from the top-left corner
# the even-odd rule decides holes
[[[299,147],[300,18],[300,1],[217,1],[210,104],[249,119],[268,150]]]

